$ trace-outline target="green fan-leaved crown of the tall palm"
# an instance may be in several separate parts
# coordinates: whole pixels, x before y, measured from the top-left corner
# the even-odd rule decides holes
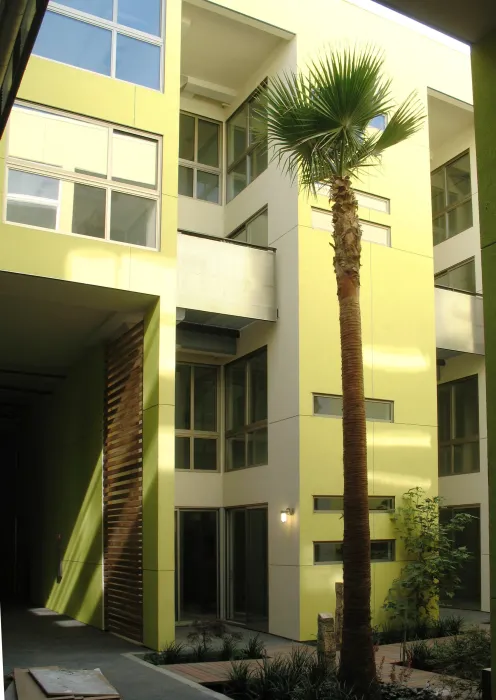
[[[423,109],[412,94],[395,110],[384,59],[371,49],[330,53],[301,73],[273,78],[265,88],[269,144],[310,189],[356,174],[421,127]],[[382,132],[370,122],[387,115]]]

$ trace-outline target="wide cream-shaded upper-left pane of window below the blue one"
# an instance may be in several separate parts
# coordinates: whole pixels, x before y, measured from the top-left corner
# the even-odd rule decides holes
[[[82,120],[16,107],[10,119],[9,155],[63,170],[107,174],[109,130]]]

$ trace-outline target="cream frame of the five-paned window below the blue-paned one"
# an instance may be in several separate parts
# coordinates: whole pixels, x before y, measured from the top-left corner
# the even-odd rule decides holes
[[[116,245],[125,245],[138,248],[140,250],[152,250],[160,251],[161,247],[161,173],[162,173],[162,137],[157,134],[149,134],[147,132],[138,131],[136,129],[130,129],[128,127],[123,127],[120,124],[113,124],[110,122],[103,122],[97,119],[92,119],[83,115],[72,115],[63,111],[52,109],[45,106],[33,105],[24,101],[16,100],[13,112],[16,108],[26,109],[30,111],[35,111],[42,113],[48,117],[55,117],[57,119],[66,119],[70,122],[82,122],[87,124],[94,124],[100,128],[104,128],[108,132],[107,141],[107,174],[105,176],[97,175],[87,175],[86,173],[77,173],[70,170],[64,170],[62,168],[57,168],[53,165],[48,165],[45,163],[38,163],[36,161],[24,160],[17,156],[10,155],[10,126],[11,121],[9,120],[9,127],[7,133],[7,149],[5,156],[5,194],[2,202],[2,221],[6,224],[12,226],[25,226],[27,228],[34,228],[42,231],[51,231],[52,233],[63,234],[66,236],[76,236],[78,238],[89,239],[92,241],[105,241],[106,243],[113,243]],[[11,117],[12,119],[12,117]],[[121,182],[120,180],[113,180],[112,175],[112,154],[113,154],[113,134],[125,134],[127,136],[135,137],[138,139],[143,139],[145,141],[152,141],[156,143],[156,185],[155,187],[145,187],[137,184],[131,184],[127,182]],[[51,177],[59,182],[59,197],[58,197],[58,209],[57,209],[57,221],[56,228],[45,228],[43,226],[30,226],[28,224],[21,224],[13,221],[7,220],[7,202],[13,201],[12,195],[9,196],[8,192],[8,173],[9,170],[17,170],[24,173],[29,173],[33,175],[41,175],[42,177]],[[60,220],[60,208],[62,206],[62,196],[61,196],[61,184],[63,182],[71,182],[73,184],[81,184],[96,187],[98,189],[105,190],[105,229],[104,237],[88,236],[81,233],[75,233],[74,231],[64,231],[58,228]],[[110,224],[111,224],[111,198],[112,192],[120,192],[122,194],[127,194],[135,197],[140,197],[141,199],[146,199],[148,201],[155,202],[155,245],[154,246],[143,246],[138,243],[126,243],[124,241],[117,241],[110,238]],[[15,195],[14,195],[15,197]],[[21,195],[21,197],[23,197]],[[23,198],[23,201],[28,201],[29,195]],[[55,202],[55,200],[53,200]]]

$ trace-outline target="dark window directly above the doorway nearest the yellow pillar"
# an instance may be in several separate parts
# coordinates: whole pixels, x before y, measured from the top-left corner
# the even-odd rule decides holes
[[[176,469],[217,471],[217,367],[176,366]]]

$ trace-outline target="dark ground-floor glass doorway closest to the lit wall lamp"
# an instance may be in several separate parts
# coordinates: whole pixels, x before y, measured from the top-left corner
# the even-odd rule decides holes
[[[228,606],[230,620],[267,631],[268,518],[267,507],[227,511]]]

